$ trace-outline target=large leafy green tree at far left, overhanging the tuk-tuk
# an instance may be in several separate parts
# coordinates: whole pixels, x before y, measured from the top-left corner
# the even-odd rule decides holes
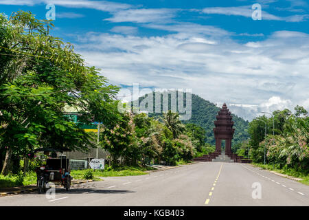
[[[107,85],[95,67],[84,66],[73,45],[49,35],[50,21],[30,12],[0,15],[0,148],[4,175],[11,157],[51,146],[87,151],[93,137],[63,115],[79,109],[80,120],[108,124],[117,118],[113,100],[118,88]]]

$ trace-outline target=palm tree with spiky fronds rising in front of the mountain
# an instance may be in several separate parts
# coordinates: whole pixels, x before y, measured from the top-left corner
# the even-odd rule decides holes
[[[172,131],[173,137],[177,138],[183,131],[185,131],[185,126],[179,120],[179,113],[174,113],[172,111],[168,111],[168,113],[164,113],[164,124],[165,126]]]

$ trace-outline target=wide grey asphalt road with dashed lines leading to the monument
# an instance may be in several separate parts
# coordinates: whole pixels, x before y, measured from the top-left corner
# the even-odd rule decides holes
[[[0,206],[309,206],[309,186],[249,164],[198,162],[132,177],[104,177],[56,197],[0,197]]]

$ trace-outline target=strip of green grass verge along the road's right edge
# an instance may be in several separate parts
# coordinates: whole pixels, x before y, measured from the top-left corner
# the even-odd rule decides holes
[[[252,163],[254,166],[259,166],[265,170],[273,170],[277,173],[282,173],[291,177],[297,177],[301,178],[303,180],[299,180],[302,184],[306,184],[309,186],[309,175],[304,172],[299,172],[293,168],[277,168],[276,166],[273,166],[273,164],[258,164],[258,163]]]

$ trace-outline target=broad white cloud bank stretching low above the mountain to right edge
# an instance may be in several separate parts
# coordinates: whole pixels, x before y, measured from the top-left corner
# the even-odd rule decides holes
[[[191,88],[211,102],[242,104],[231,110],[247,119],[308,102],[308,34],[274,32],[254,42],[259,47],[248,47],[218,34],[220,29],[212,35],[171,29],[179,32],[151,37],[89,33],[76,48],[111,83]]]

